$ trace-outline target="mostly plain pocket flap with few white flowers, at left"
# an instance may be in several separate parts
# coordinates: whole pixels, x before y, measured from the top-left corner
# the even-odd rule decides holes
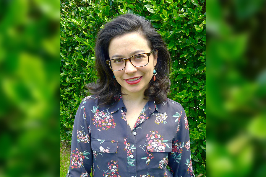
[[[91,148],[101,153],[115,153],[118,142],[114,140],[91,139]]]

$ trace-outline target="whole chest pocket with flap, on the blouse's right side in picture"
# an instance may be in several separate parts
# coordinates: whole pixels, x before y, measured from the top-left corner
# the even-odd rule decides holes
[[[147,171],[150,174],[165,173],[168,164],[168,153],[172,151],[171,140],[146,140]]]

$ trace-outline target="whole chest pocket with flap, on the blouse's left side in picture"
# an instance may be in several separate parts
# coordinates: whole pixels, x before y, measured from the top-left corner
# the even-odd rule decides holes
[[[114,140],[91,139],[91,148],[93,150],[93,163],[95,168],[100,171],[109,171],[112,168],[118,168],[116,152],[118,142]]]

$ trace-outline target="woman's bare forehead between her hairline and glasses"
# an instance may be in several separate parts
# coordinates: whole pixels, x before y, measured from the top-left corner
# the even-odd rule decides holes
[[[149,41],[141,34],[133,32],[114,37],[109,44],[109,57],[120,55],[121,57],[130,57],[130,55],[150,52]]]

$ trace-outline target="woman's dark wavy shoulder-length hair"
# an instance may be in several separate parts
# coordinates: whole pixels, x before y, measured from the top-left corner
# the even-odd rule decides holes
[[[167,98],[171,84],[169,70],[172,60],[165,42],[161,35],[155,31],[150,21],[138,15],[124,14],[106,23],[98,33],[96,40],[95,65],[99,79],[96,83],[87,84],[87,88],[91,94],[100,96],[100,105],[111,105],[116,101],[115,95],[120,93],[121,89],[119,83],[113,78],[112,70],[106,64],[106,60],[109,60],[110,41],[114,37],[131,32],[137,32],[144,36],[148,40],[150,48],[155,49],[158,55],[155,66],[158,71],[156,81],[151,79],[149,82],[149,87],[144,92],[145,99],[155,100],[156,104],[160,104]]]

